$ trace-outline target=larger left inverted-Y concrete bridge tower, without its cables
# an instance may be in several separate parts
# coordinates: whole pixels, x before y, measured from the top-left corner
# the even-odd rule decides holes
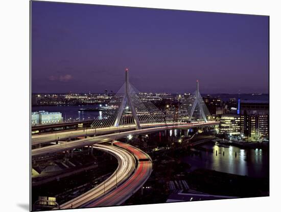
[[[123,97],[121,107],[119,107],[119,109],[118,109],[118,114],[116,116],[114,126],[119,126],[122,114],[123,114],[124,110],[126,109],[126,104],[128,104],[129,105],[128,107],[129,107],[129,109],[132,113],[133,119],[134,119],[134,123],[136,125],[136,129],[139,130],[140,124],[139,124],[139,120],[138,120],[138,117],[137,117],[136,112],[135,112],[135,108],[133,107],[133,104],[132,104],[129,86],[130,86],[130,84],[129,84],[129,69],[126,68],[125,69],[125,92],[124,92],[125,95]]]

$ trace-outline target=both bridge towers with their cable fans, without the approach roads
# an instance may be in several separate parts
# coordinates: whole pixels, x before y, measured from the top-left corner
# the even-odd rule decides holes
[[[125,71],[125,82],[108,103],[106,110],[91,124],[91,128],[108,128],[135,125],[139,130],[147,124],[179,124],[211,121],[208,109],[199,92],[199,82],[193,95],[186,99],[177,110],[166,115],[151,103],[129,82],[129,71]]]

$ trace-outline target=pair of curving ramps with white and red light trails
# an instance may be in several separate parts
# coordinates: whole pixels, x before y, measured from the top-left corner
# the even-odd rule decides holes
[[[152,171],[151,158],[129,144],[114,141],[114,145],[119,147],[97,144],[95,148],[118,159],[116,171],[88,192],[62,204],[60,209],[119,205],[143,186]],[[138,161],[139,159],[147,161]]]

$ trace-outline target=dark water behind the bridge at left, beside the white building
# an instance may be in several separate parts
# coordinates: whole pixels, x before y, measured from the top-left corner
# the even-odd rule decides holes
[[[63,120],[71,121],[83,121],[83,120],[93,120],[97,118],[101,112],[99,111],[79,111],[80,108],[96,108],[97,105],[69,105],[69,106],[34,106],[32,107],[32,112],[35,111],[48,111],[48,112],[60,112],[62,114]]]

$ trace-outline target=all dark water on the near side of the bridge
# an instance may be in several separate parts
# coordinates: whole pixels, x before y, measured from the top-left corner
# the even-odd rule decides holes
[[[180,139],[180,130],[153,134],[150,141],[156,147],[171,146],[172,141]],[[178,146],[179,143],[176,143]],[[208,142],[201,148],[192,149],[192,154],[186,152],[180,157],[181,161],[191,165],[186,172],[197,168],[205,168],[229,174],[263,178],[269,176],[269,149],[243,149],[237,146],[222,147]]]

